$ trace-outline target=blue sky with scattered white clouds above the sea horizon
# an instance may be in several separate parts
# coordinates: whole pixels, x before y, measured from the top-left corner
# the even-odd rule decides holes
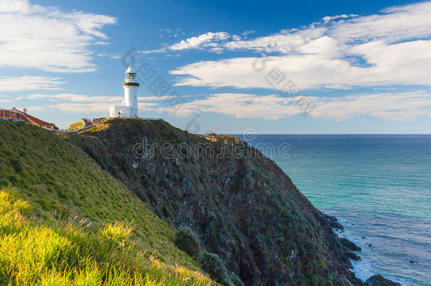
[[[0,107],[192,133],[431,133],[431,1],[0,0]]]

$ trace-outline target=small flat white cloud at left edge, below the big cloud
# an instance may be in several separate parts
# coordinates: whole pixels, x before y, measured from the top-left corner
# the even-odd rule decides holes
[[[9,76],[0,78],[0,91],[59,90],[59,85],[64,84],[59,80],[47,76]]]

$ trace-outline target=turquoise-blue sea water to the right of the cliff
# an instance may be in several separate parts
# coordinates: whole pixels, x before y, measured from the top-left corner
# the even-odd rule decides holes
[[[362,247],[359,278],[431,285],[431,136],[259,135],[249,143],[271,143],[264,153],[341,220],[339,235]]]

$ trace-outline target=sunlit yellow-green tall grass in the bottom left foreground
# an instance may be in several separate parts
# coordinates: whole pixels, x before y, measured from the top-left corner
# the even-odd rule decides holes
[[[0,285],[213,285],[206,275],[170,266],[131,241],[124,222],[37,222],[16,189],[0,191]]]

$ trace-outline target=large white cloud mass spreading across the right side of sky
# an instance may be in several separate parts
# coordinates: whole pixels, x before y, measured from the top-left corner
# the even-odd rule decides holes
[[[218,46],[218,52],[223,47],[271,53],[260,59],[266,62],[264,71],[255,71],[254,58],[247,57],[201,61],[171,73],[181,76],[177,85],[217,88],[278,89],[265,79],[273,68],[302,90],[431,85],[430,15],[431,1],[426,1],[372,16],[333,16],[297,30]]]

